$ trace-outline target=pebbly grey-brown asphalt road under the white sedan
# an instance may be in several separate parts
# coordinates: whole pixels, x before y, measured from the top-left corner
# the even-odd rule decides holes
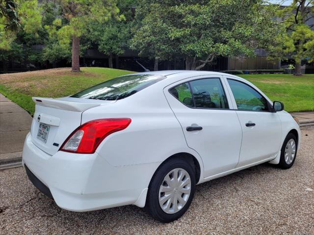
[[[135,206],[58,208],[23,167],[0,171],[0,234],[314,234],[314,127],[292,168],[262,164],[198,185],[190,209],[162,224]]]

